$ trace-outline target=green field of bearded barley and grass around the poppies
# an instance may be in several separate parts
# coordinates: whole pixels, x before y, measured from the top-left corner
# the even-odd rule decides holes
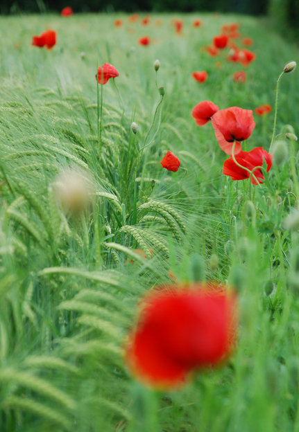
[[[198,15],[203,26],[192,28]],[[274,106],[277,78],[298,49],[267,21],[198,15],[184,16],[180,37],[170,15],[159,16],[159,28],[114,28],[123,15],[0,17],[1,432],[299,431],[299,239],[282,226],[299,199],[298,144],[288,141],[290,157],[266,186],[250,188],[223,176],[212,125],[191,118],[202,100],[221,109]],[[200,51],[236,19],[257,54],[245,84],[232,81],[241,66]],[[58,32],[52,51],[31,46],[46,28]],[[143,35],[153,44],[139,46]],[[156,59],[161,125],[159,108],[153,143],[139,152],[160,102]],[[94,75],[104,62],[119,71],[124,112],[110,80],[99,89],[99,141]],[[209,78],[200,85],[191,72],[202,70]],[[282,77],[277,134],[298,132],[298,106],[295,71]],[[273,112],[255,120],[247,150],[268,150]],[[167,150],[187,168],[183,182],[182,170],[161,167]],[[82,217],[57,206],[54,183],[68,167],[94,179]],[[256,217],[248,217],[249,198]],[[153,258],[135,249],[153,249]],[[142,294],[171,283],[169,269],[191,281],[195,255],[205,263],[197,279],[237,287],[239,343],[222,368],[157,393],[130,377],[123,342]]]

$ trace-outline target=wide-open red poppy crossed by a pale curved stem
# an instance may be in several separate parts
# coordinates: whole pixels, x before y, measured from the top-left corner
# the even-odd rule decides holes
[[[268,172],[272,166],[272,154],[266,152],[266,150],[264,150],[262,147],[255,147],[253,150],[251,150],[251,152],[239,152],[239,154],[236,156],[236,161],[245,168],[248,168],[250,171],[252,171],[255,167],[262,166],[264,161],[266,161]],[[223,174],[230,176],[232,180],[244,180],[250,178],[250,173],[236,165],[232,159],[232,156],[230,156],[230,159],[224,162]],[[253,174],[255,174],[255,177],[259,183],[264,181],[262,170],[254,170]],[[253,184],[257,184],[254,177],[251,177],[251,182]]]

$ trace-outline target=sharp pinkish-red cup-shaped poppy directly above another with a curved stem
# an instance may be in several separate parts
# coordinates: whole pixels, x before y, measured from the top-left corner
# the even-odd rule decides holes
[[[211,118],[216,140],[223,152],[232,154],[232,144],[237,141],[234,154],[241,152],[241,144],[250,137],[255,128],[253,111],[239,107],[220,109]]]

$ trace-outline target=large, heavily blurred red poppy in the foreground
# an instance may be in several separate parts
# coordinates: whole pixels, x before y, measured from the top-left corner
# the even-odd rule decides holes
[[[236,295],[216,286],[173,286],[146,296],[128,336],[133,375],[157,388],[184,384],[192,369],[228,358],[237,334]]]

